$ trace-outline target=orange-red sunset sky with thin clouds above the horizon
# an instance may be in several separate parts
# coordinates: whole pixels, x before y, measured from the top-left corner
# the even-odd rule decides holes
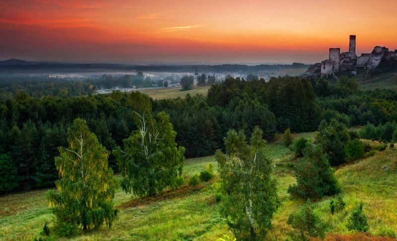
[[[396,27],[397,0],[0,0],[0,59],[314,63]]]

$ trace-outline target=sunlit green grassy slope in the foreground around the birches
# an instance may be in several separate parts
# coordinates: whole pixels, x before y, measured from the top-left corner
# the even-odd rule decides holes
[[[312,137],[313,133],[303,136]],[[370,144],[371,141],[367,141]],[[267,144],[268,156],[275,164],[278,179],[280,207],[273,218],[273,228],[267,234],[268,240],[285,240],[290,227],[286,224],[288,215],[302,200],[290,200],[289,185],[295,182],[288,165],[293,160],[291,151],[279,142]],[[346,202],[344,210],[331,215],[326,197],[315,203],[315,212],[327,224],[331,234],[347,235],[345,227],[349,211],[358,203],[364,204],[369,232],[375,236],[393,236],[397,231],[397,150],[388,148],[373,157],[349,163],[337,168],[335,175],[342,187]],[[214,156],[187,159],[184,175],[199,173]],[[219,215],[219,204],[214,199],[211,183],[201,182],[197,187],[183,186],[178,190],[165,192],[156,198],[137,199],[119,190],[115,203],[121,210],[111,230],[85,232],[73,240],[216,240],[222,234],[232,236]],[[46,202],[47,190],[29,191],[0,197],[0,240],[30,240],[38,237],[45,221],[52,220]],[[331,239],[332,240],[332,239]],[[357,240],[357,239],[356,239]],[[360,239],[358,239],[360,240]]]

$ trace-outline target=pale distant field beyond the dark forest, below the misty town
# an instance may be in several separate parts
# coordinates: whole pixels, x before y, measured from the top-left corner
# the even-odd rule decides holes
[[[195,95],[195,94],[207,95],[209,87],[210,85],[196,86],[193,87],[191,90],[185,90],[185,91],[181,91],[182,89],[181,87],[142,89],[139,91],[149,95],[153,99],[168,99],[168,98],[177,98],[177,97],[184,98],[188,93],[191,95]]]

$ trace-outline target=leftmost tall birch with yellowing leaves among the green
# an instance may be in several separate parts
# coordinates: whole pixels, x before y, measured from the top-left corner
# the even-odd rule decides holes
[[[117,216],[112,200],[118,182],[108,168],[106,149],[81,119],[74,120],[67,140],[69,146],[59,148],[60,156],[55,159],[60,177],[56,181],[58,192],[47,192],[56,230],[69,236],[79,225],[85,230],[106,222],[110,228]]]

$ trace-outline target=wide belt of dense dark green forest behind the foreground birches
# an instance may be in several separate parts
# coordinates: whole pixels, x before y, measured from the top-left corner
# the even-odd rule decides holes
[[[53,185],[58,147],[67,145],[68,128],[75,118],[81,118],[109,152],[109,166],[117,172],[116,159],[110,152],[117,146],[124,148],[123,140],[137,128],[134,111],[142,114],[145,109],[153,115],[162,111],[168,114],[177,133],[176,143],[186,148],[185,156],[199,157],[225,150],[223,138],[230,128],[251,136],[259,126],[264,139],[270,141],[285,129],[317,130],[323,119],[328,123],[336,119],[346,126],[394,123],[397,93],[359,91],[354,82],[342,78],[329,83],[297,77],[268,82],[228,78],[212,85],[207,96],[163,100],[152,100],[139,92],[41,98],[17,92],[0,103],[0,154],[12,160],[0,162],[1,168],[16,170],[18,186],[12,188]]]

